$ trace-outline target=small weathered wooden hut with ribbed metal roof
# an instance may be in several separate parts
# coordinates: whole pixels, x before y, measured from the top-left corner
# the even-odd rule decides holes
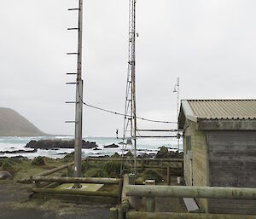
[[[182,101],[187,185],[256,187],[256,100]],[[209,213],[256,214],[256,201],[198,199]]]

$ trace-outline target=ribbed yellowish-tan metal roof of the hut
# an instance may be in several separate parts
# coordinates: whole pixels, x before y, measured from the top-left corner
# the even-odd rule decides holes
[[[188,100],[197,118],[256,119],[256,100]]]

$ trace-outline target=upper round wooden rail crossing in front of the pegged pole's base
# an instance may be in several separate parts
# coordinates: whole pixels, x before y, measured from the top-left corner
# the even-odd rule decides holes
[[[32,176],[35,182],[62,182],[62,183],[101,183],[119,184],[120,179],[96,177],[59,177],[59,176]]]

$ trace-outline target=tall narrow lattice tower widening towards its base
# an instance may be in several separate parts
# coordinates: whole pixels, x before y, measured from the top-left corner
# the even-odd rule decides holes
[[[129,6],[129,58],[125,97],[125,122],[124,136],[127,139],[123,145],[123,153],[127,146],[132,145],[134,153],[134,170],[137,174],[137,117],[136,117],[136,67],[135,67],[135,42],[136,42],[136,0],[130,0]],[[131,141],[130,141],[131,140]],[[121,172],[122,173],[122,172]]]

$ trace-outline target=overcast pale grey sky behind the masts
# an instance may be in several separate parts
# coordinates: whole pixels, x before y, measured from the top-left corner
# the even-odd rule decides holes
[[[0,2],[0,107],[40,130],[73,134],[78,0]],[[128,0],[84,0],[84,99],[123,112]],[[137,115],[175,120],[181,97],[255,98],[256,1],[137,0]],[[84,107],[84,135],[115,135],[122,117]],[[138,122],[139,128],[166,128]],[[173,128],[170,126],[170,128]]]

